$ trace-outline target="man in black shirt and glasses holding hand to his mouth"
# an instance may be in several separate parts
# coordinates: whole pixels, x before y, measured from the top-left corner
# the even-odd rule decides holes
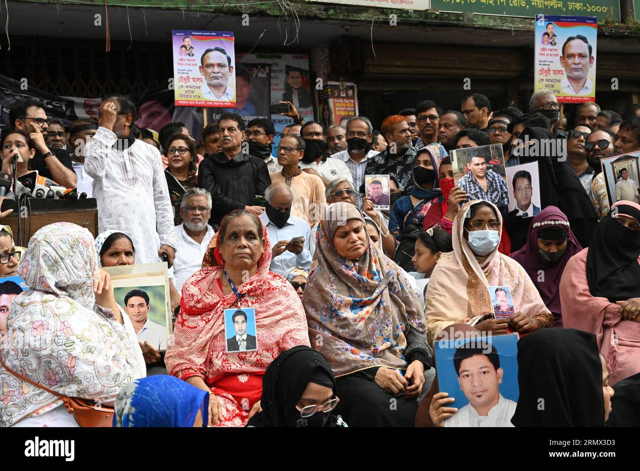
[[[9,112],[9,124],[13,129],[21,129],[31,136],[36,154],[30,161],[31,170],[38,175],[50,178],[58,185],[76,188],[77,175],[74,172],[71,156],[66,149],[47,145],[47,115],[42,103],[31,98],[17,101]]]

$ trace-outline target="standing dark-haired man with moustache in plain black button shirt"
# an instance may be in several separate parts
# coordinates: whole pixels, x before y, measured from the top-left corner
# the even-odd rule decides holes
[[[207,155],[198,168],[198,186],[211,193],[210,220],[219,224],[230,211],[239,209],[260,215],[264,208],[252,206],[252,201],[271,184],[267,164],[243,153],[245,125],[239,114],[222,113],[218,128],[222,152]]]

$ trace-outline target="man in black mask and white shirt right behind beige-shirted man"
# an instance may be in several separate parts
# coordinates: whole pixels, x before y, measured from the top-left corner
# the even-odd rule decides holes
[[[298,164],[303,172],[320,177],[324,186],[336,178],[346,178],[353,183],[347,165],[338,159],[329,158],[322,124],[317,121],[305,122],[300,135],[305,140],[305,155]]]

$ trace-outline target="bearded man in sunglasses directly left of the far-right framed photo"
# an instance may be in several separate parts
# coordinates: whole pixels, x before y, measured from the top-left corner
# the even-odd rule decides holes
[[[587,142],[584,144],[584,149],[587,152],[587,161],[594,172],[589,197],[593,208],[598,213],[599,219],[602,219],[609,212],[609,197],[607,197],[607,186],[605,185],[600,160],[613,154],[615,140],[616,135],[609,129],[595,129],[589,134]]]

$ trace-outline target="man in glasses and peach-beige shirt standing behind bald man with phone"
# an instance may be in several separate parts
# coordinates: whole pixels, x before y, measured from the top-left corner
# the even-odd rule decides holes
[[[304,154],[305,141],[300,135],[284,136],[278,147],[278,164],[282,165],[282,171],[270,175],[272,183],[284,181],[291,186],[295,195],[291,214],[314,226],[322,220],[326,197],[322,179],[300,169]]]

